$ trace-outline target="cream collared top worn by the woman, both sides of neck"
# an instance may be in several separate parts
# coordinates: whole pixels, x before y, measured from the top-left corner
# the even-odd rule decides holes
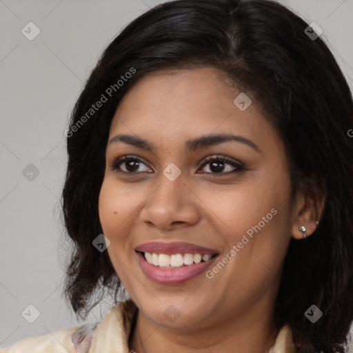
[[[100,323],[22,339],[0,353],[130,353],[128,338],[135,310],[131,300],[124,301],[112,307]],[[282,327],[269,353],[296,353],[288,325]]]

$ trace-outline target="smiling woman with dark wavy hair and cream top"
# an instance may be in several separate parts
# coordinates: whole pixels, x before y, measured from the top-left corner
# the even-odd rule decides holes
[[[265,0],[132,21],[66,132],[66,298],[114,307],[1,352],[345,352],[353,105],[319,34]]]

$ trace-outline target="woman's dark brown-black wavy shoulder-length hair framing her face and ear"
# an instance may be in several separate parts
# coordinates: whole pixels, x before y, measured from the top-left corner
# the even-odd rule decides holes
[[[276,325],[290,325],[301,353],[344,352],[353,320],[352,93],[322,36],[310,39],[307,26],[274,1],[177,0],[141,14],[105,48],[74,105],[67,134],[62,209],[73,246],[64,294],[77,316],[85,318],[105,290],[117,303],[123,288],[108,252],[92,245],[103,232],[98,199],[119,101],[148,72],[212,67],[250,92],[279,132],[292,193],[325,195],[319,228],[307,239],[290,240]],[[304,315],[312,304],[323,312],[316,323]]]

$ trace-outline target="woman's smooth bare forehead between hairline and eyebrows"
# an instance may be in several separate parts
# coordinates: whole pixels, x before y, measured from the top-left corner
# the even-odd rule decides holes
[[[110,137],[126,132],[154,134],[156,138],[161,134],[164,140],[185,134],[232,131],[261,139],[264,129],[271,130],[271,126],[254,103],[239,110],[233,101],[240,93],[215,68],[150,72],[121,99]]]

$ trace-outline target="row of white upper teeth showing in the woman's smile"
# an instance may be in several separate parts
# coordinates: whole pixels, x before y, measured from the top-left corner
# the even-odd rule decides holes
[[[148,263],[161,268],[179,268],[183,265],[192,265],[201,263],[201,260],[208,261],[212,254],[155,254],[154,252],[145,252],[145,259]]]

